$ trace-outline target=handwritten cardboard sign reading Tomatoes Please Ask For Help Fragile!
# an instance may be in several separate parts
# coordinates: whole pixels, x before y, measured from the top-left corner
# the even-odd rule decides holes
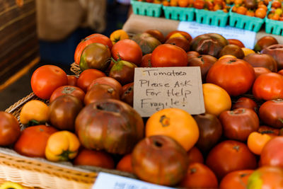
[[[134,109],[149,117],[165,108],[205,112],[200,67],[134,69]]]

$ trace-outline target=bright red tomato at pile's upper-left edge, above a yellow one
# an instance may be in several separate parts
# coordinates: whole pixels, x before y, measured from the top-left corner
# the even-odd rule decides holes
[[[36,96],[48,100],[56,88],[68,84],[68,77],[63,69],[54,65],[44,65],[35,69],[30,84]]]

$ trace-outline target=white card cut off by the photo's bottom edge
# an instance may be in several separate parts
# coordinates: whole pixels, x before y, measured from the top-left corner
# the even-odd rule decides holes
[[[174,189],[139,181],[134,178],[100,172],[92,189]]]

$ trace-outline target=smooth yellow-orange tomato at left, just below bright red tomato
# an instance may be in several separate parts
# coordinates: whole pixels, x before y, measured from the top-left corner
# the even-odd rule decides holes
[[[49,107],[42,101],[28,101],[21,109],[20,122],[23,125],[44,125],[48,119]]]

